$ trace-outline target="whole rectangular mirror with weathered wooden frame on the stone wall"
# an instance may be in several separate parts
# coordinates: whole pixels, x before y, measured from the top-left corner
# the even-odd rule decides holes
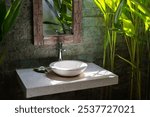
[[[81,41],[82,0],[33,0],[34,44]]]

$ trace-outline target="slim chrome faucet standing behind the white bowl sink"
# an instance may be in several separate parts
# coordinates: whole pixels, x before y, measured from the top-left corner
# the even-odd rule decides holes
[[[58,49],[58,60],[61,61],[62,60],[62,52],[65,51],[63,49],[63,43],[60,39],[58,39],[57,41],[57,49]]]

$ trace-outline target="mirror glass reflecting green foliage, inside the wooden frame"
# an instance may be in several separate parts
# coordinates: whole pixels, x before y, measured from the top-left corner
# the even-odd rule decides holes
[[[43,35],[73,34],[72,0],[42,0]]]

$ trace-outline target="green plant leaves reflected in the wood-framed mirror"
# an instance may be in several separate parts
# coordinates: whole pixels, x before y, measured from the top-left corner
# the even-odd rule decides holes
[[[72,0],[45,0],[50,13],[55,15],[58,22],[44,21],[44,24],[60,26],[57,33],[66,34],[68,31],[72,33]]]

